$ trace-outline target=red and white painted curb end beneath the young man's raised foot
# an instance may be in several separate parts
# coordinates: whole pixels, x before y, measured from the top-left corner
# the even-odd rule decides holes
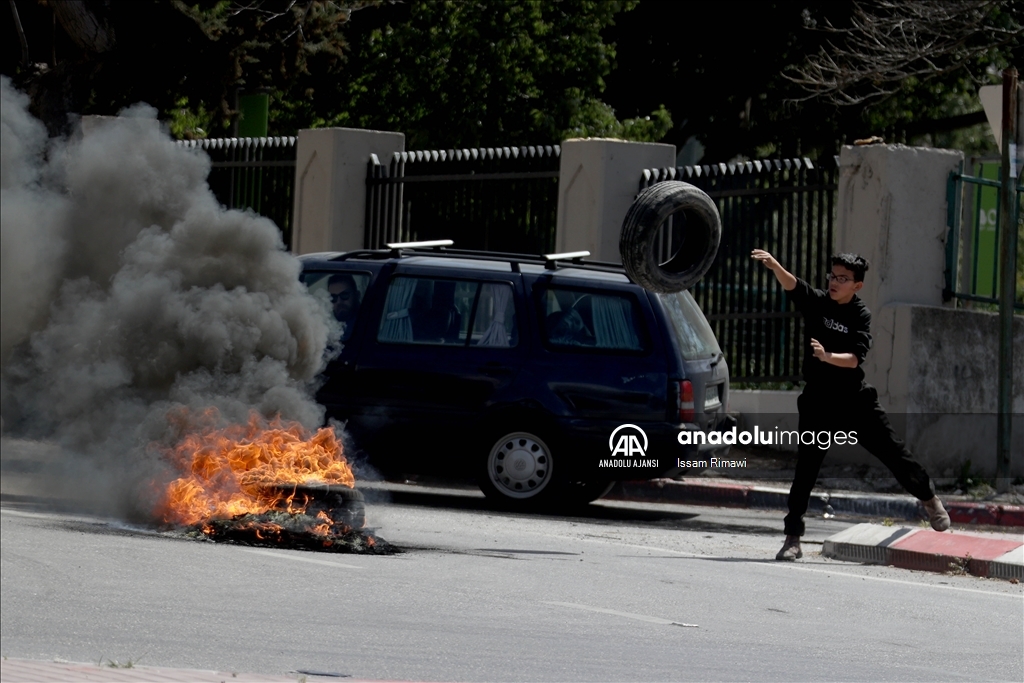
[[[821,554],[848,562],[1024,581],[1022,535],[940,533],[925,528],[857,524],[825,539]]]

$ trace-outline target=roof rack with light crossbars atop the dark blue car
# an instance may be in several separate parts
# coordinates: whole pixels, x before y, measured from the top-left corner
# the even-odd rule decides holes
[[[350,259],[389,259],[409,258],[411,256],[443,256],[469,261],[508,261],[513,272],[520,272],[520,263],[543,265],[547,270],[559,267],[582,268],[601,272],[623,273],[622,263],[610,261],[585,261],[590,256],[589,251],[563,252],[559,254],[516,254],[511,252],[481,251],[477,249],[450,249],[452,240],[429,240],[424,242],[391,242],[386,249],[360,249],[338,254],[332,261],[347,261]]]

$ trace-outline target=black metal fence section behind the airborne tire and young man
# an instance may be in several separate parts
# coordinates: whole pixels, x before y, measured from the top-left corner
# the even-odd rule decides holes
[[[797,382],[807,349],[803,321],[786,305],[775,276],[751,259],[765,249],[787,270],[825,286],[836,220],[835,158],[754,161],[645,170],[640,189],[665,180],[696,185],[718,205],[718,257],[692,294],[729,362],[733,383]],[[681,243],[671,221],[660,228],[660,261]]]

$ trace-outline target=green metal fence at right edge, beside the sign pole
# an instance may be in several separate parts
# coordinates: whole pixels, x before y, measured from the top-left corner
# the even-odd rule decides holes
[[[972,159],[968,163],[970,175],[964,173],[963,167],[949,174],[943,291],[946,301],[957,299],[969,306],[971,302],[993,306],[999,303],[1000,166],[997,158]],[[1017,185],[1016,189],[1016,215],[1020,216],[1024,186]],[[1019,279],[1014,308],[1024,310],[1024,283]]]

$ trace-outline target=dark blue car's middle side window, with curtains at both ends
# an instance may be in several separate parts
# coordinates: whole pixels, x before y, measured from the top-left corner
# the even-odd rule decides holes
[[[388,286],[378,341],[514,346],[512,286],[399,275]]]

